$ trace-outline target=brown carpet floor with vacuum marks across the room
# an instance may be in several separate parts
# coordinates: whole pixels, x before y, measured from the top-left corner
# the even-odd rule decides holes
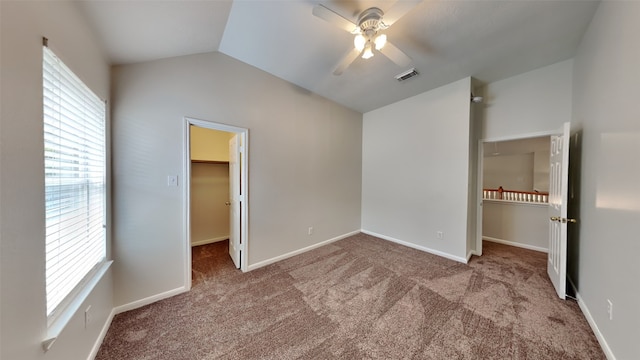
[[[485,242],[465,265],[358,234],[242,273],[227,246],[116,315],[96,359],[605,359],[543,253]]]

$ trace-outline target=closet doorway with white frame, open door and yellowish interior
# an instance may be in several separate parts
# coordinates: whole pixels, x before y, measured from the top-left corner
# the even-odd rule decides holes
[[[229,239],[229,256],[246,271],[248,129],[185,118],[184,134],[186,283],[191,247],[216,241]]]

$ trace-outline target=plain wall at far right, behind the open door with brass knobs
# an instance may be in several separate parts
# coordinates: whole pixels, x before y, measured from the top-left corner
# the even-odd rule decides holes
[[[569,272],[617,359],[640,354],[639,33],[639,2],[603,1],[574,62],[573,123],[583,137],[580,236]]]

